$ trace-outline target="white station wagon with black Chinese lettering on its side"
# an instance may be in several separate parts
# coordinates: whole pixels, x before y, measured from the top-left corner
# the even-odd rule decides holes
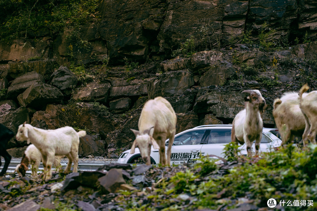
[[[171,149],[171,164],[194,163],[199,156],[216,155],[224,157],[223,148],[231,142],[232,125],[202,125],[194,127],[175,135]],[[281,146],[282,141],[277,137],[278,130],[263,127],[262,140],[259,152],[269,152]],[[165,141],[167,150],[169,139]],[[255,142],[255,141],[254,141]],[[239,147],[241,155],[247,154],[245,144]],[[255,152],[255,144],[252,145]],[[151,163],[159,163],[159,150],[151,148]],[[130,154],[130,150],[119,155],[118,163],[144,163],[141,159],[139,148]]]

